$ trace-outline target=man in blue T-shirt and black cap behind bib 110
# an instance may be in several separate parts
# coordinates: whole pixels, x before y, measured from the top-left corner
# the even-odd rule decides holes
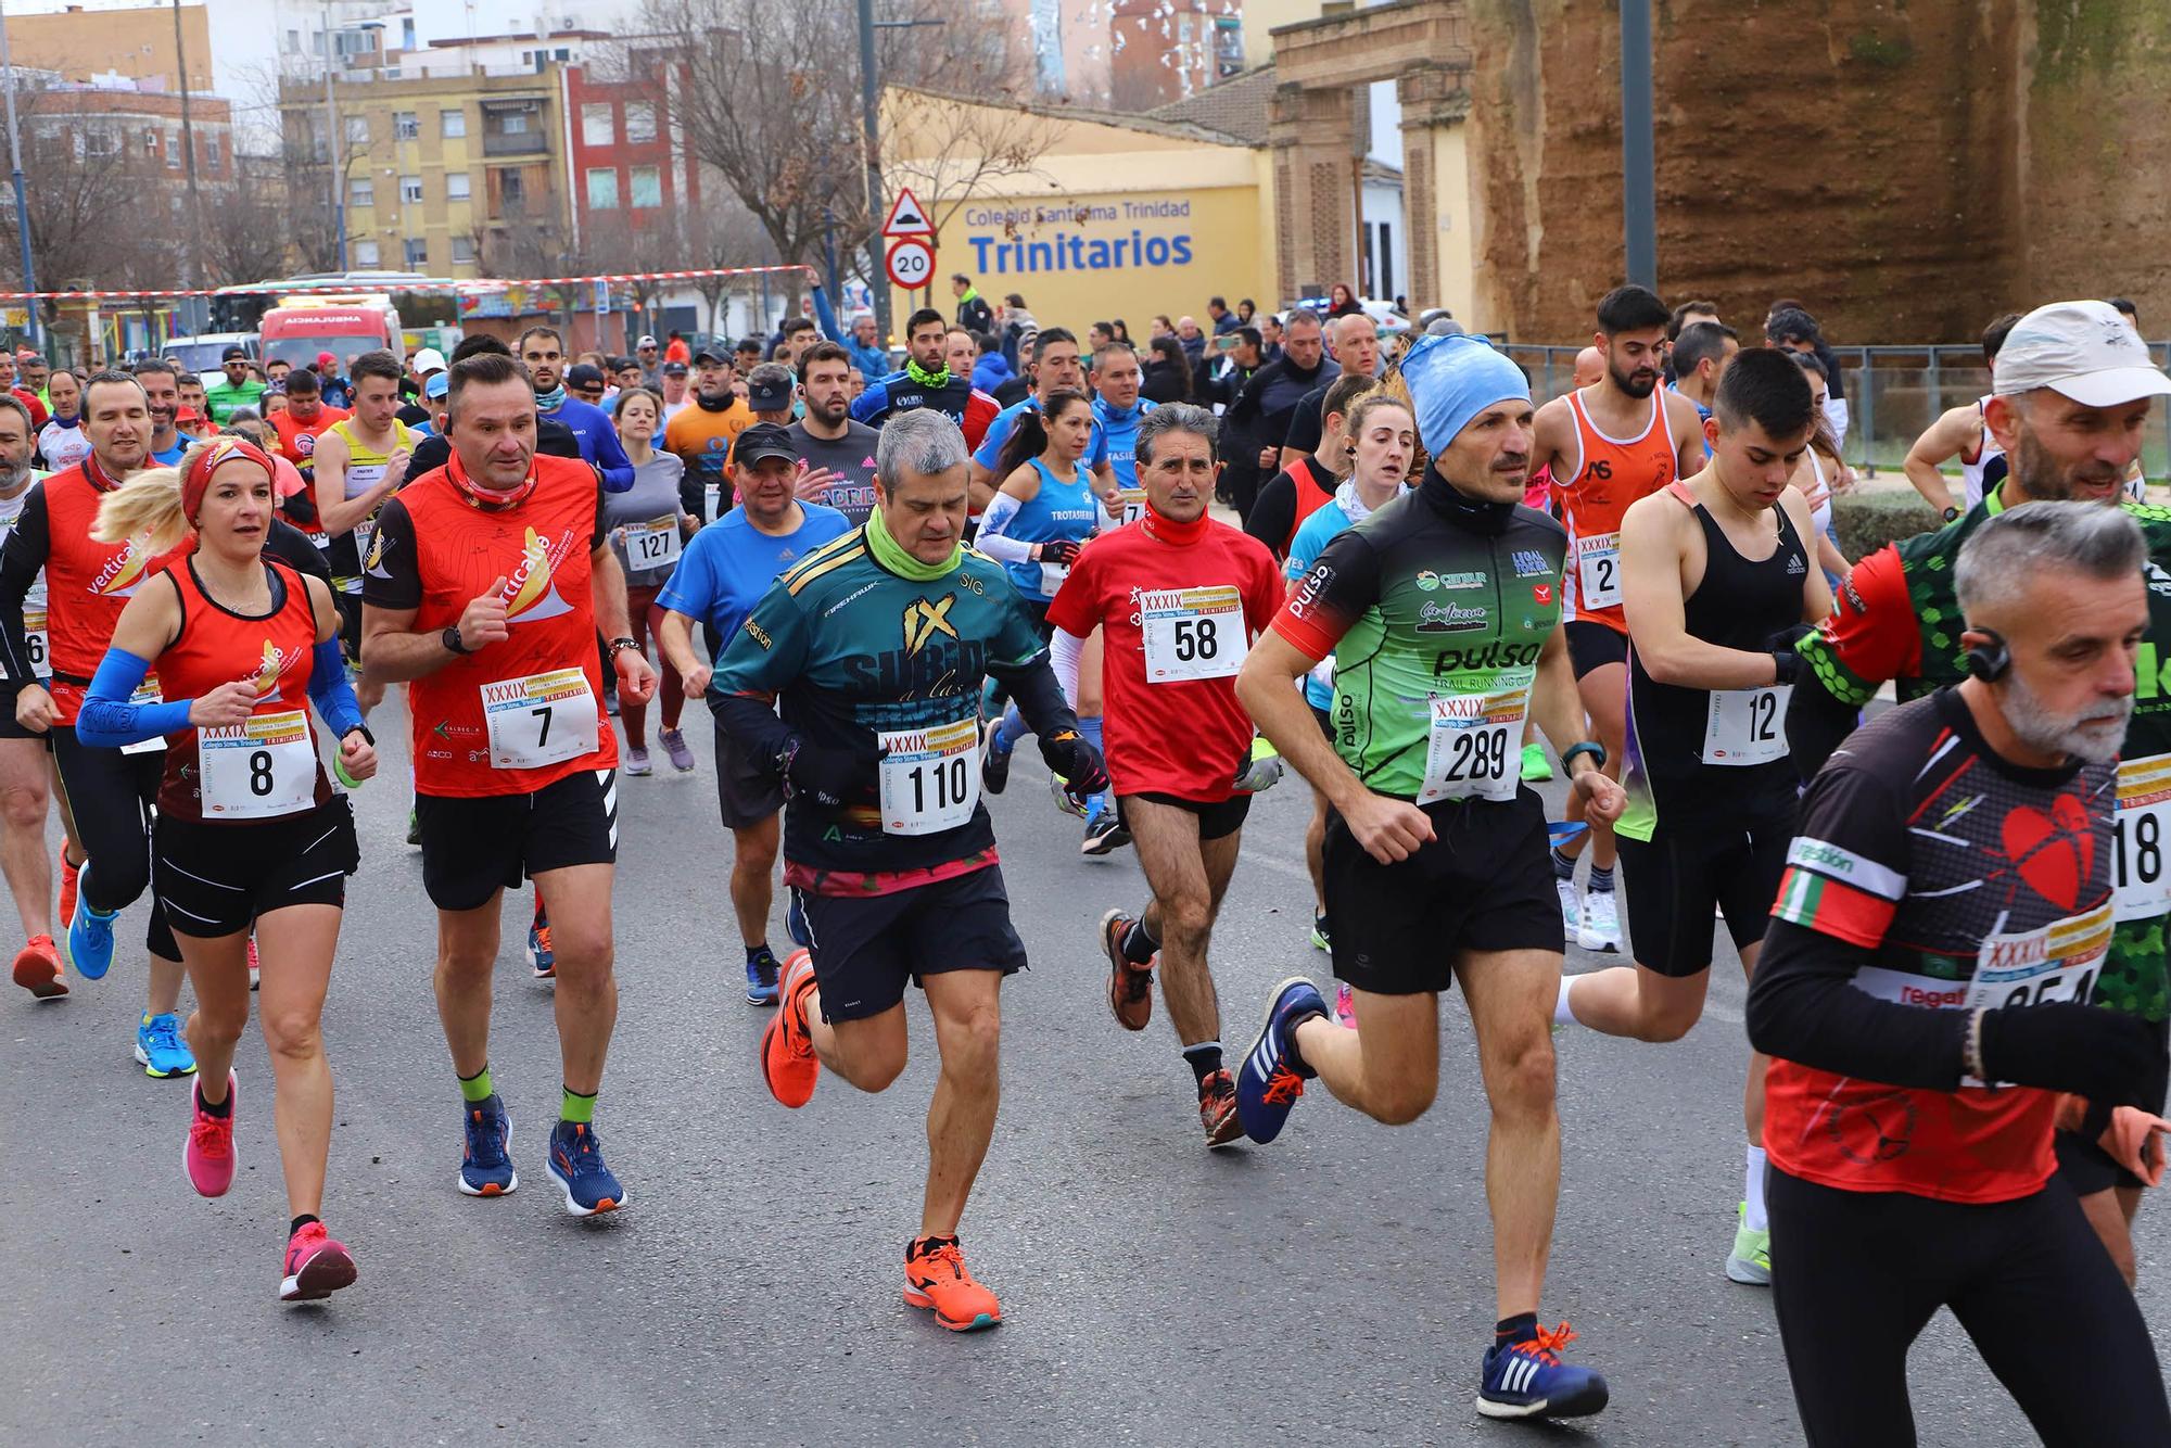
[[[710,664],[695,651],[693,625],[706,627],[708,656],[721,658],[779,573],[851,532],[851,521],[836,508],[795,497],[792,465],[799,454],[788,430],[756,423],[738,441],[738,508],[695,534],[677,571],[656,595],[656,647],[690,699],[706,697],[712,677]],[[732,912],[747,947],[747,1003],[775,1005],[782,966],[769,949],[769,877],[777,866],[784,795],[773,771],[749,758],[727,729],[716,729],[716,805],[723,827],[732,831]]]

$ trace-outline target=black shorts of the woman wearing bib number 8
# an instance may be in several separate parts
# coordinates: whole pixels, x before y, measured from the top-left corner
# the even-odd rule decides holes
[[[287,818],[206,825],[161,814],[152,827],[152,894],[176,936],[234,936],[289,905],[345,905],[360,864],[345,795]]]

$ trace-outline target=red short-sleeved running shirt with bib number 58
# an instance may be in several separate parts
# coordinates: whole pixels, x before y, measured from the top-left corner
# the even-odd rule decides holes
[[[1101,534],[1049,606],[1049,623],[1066,634],[1101,630],[1101,729],[1118,795],[1220,803],[1250,758],[1253,727],[1235,699],[1235,664],[1281,612],[1285,586],[1264,543],[1227,523],[1201,523],[1170,525],[1148,512]],[[1170,543],[1155,530],[1196,541]],[[1148,606],[1159,619],[1153,625],[1144,621]],[[1211,658],[1203,656],[1201,619],[1211,621]],[[1151,671],[1227,673],[1151,682]]]

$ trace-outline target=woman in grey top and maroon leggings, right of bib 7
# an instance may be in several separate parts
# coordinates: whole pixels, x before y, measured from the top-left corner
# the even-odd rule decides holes
[[[604,495],[604,523],[610,525],[610,547],[625,573],[627,632],[640,645],[643,656],[649,651],[649,634],[653,632],[658,658],[666,658],[662,651],[662,608],[656,604],[656,595],[671,577],[686,538],[701,525],[701,519],[686,508],[688,499],[680,486],[686,478],[686,465],[680,462],[677,454],[656,452],[660,417],[662,397],[645,386],[619,393],[619,406],[610,421],[634,465],[634,486],[625,493]],[[684,775],[693,771],[693,749],[686,747],[686,734],[680,729],[686,695],[680,693],[677,669],[658,673],[662,732],[656,742],[664,747],[671,769]],[[640,699],[619,699],[619,725],[625,727],[625,773],[630,777],[653,773],[649,764],[649,706]]]

